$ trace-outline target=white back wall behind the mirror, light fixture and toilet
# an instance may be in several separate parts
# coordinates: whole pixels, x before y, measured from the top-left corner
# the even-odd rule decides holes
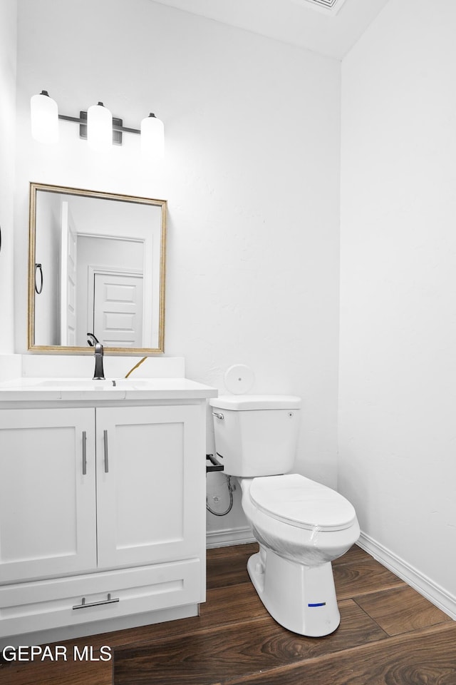
[[[297,468],[335,485],[340,64],[151,0],[18,6],[16,350],[29,181],[165,198],[165,352],[222,392],[241,362],[254,392],[300,395]],[[29,98],[43,88],[71,116],[102,100],[136,128],[154,111],[165,163],[142,163],[128,135],[95,156],[64,122],[57,148],[31,141]],[[209,519],[237,525],[239,502]]]

